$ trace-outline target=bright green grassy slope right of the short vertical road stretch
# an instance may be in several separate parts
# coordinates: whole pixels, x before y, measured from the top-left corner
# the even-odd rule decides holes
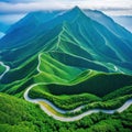
[[[66,66],[58,61],[52,58],[48,54],[41,56],[40,69],[50,75],[55,75],[62,79],[72,80],[81,73],[79,68]]]

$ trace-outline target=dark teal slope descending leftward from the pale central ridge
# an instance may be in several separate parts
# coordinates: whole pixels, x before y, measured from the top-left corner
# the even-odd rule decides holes
[[[53,45],[56,43],[56,36],[61,30],[62,26],[56,26],[54,30],[51,30],[44,34],[24,40],[21,42],[22,46],[16,46],[12,50],[6,50],[2,52],[1,59],[8,62],[12,68],[19,67],[26,61],[31,59],[34,55],[37,55],[50,44]]]

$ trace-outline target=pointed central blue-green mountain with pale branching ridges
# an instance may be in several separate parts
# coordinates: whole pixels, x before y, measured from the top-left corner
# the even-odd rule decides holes
[[[131,62],[131,44],[128,45],[124,40],[117,37],[106,26],[87,18],[77,7],[38,26],[37,36],[34,34],[35,36],[29,38],[25,42],[25,47],[16,45],[18,48],[15,51],[9,50],[10,52],[8,54],[4,53],[2,59],[8,59],[9,62],[20,59],[14,57],[14,54],[18,53],[23,58],[22,61],[24,61],[41,51],[59,51],[78,56],[85,55],[85,58],[90,61],[116,63],[116,65]],[[43,32],[45,33],[43,34]],[[33,44],[34,47],[31,50],[30,46]],[[123,52],[124,50],[127,52]],[[26,55],[25,58],[23,52]],[[11,56],[12,59],[10,61]]]

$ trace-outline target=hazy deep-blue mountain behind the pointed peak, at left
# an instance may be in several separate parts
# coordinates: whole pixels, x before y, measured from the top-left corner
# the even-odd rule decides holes
[[[38,25],[55,18],[59,11],[54,12],[31,12],[19,22],[13,24],[8,31],[7,35],[0,40],[0,48],[10,48],[10,46],[21,45],[37,34]],[[18,35],[19,34],[19,35]],[[25,41],[24,41],[25,40]]]

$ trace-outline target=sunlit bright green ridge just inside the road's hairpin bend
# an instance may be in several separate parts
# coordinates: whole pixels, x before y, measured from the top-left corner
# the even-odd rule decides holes
[[[80,94],[73,96],[53,96],[51,94],[46,94],[43,89],[34,88],[30,91],[29,95],[31,98],[44,98],[56,105],[58,108],[63,109],[74,109],[81,105],[87,105],[95,101],[100,101],[101,99],[95,95],[90,94]]]

